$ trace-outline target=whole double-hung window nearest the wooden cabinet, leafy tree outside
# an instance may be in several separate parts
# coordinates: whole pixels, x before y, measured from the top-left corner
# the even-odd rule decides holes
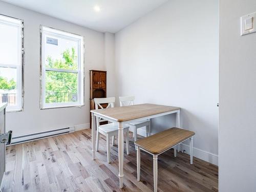
[[[83,37],[41,26],[41,109],[83,105]]]

